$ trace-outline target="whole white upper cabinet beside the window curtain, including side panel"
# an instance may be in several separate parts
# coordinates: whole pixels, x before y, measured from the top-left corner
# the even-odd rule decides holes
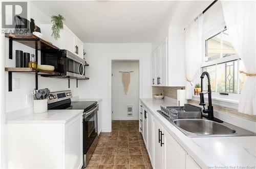
[[[168,35],[157,46],[151,57],[152,85],[185,86],[184,45],[184,33],[177,33]]]

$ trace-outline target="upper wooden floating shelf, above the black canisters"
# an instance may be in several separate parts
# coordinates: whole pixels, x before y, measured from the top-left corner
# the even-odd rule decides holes
[[[32,33],[24,34],[5,34],[5,37],[12,39],[14,41],[18,41],[24,45],[32,47],[36,50],[60,50],[58,47],[54,46],[52,43],[41,39],[35,36]]]

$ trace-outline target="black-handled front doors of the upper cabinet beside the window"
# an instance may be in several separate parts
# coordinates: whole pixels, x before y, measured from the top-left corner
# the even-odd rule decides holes
[[[152,85],[154,86],[167,86],[167,54],[166,38],[152,54]]]

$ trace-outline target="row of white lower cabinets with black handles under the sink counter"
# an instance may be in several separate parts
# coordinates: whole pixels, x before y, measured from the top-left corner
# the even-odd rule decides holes
[[[200,168],[176,139],[161,125],[144,104],[140,103],[140,127],[154,169]]]

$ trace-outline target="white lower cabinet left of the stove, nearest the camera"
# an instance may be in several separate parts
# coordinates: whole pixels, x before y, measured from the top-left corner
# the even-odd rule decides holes
[[[7,124],[6,128],[7,168],[82,167],[82,114],[66,124]]]

